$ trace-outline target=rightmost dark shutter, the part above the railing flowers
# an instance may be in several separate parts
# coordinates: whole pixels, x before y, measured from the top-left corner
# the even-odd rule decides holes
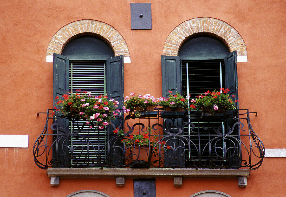
[[[229,88],[229,95],[235,95],[238,100],[238,82],[237,82],[237,57],[236,51],[225,57],[225,87]],[[238,103],[236,108],[238,108]]]

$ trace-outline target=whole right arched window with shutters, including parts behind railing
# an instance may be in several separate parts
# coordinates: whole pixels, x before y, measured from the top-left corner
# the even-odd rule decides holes
[[[195,98],[199,94],[204,94],[205,91],[219,90],[221,87],[229,88],[230,95],[235,95],[238,99],[237,92],[237,60],[236,51],[229,52],[229,48],[223,41],[217,37],[211,35],[198,35],[194,34],[181,45],[178,56],[165,56],[162,55],[162,94],[163,97],[168,97],[168,94],[174,94],[178,92],[183,95],[191,94],[191,99]],[[168,93],[168,90],[172,90],[172,93]],[[238,108],[238,105],[237,105]],[[188,120],[176,119],[174,122],[174,131],[178,130],[176,125],[182,127],[184,122],[190,122],[190,118],[194,118],[194,113],[189,114]],[[223,121],[223,120],[222,120]],[[169,123],[168,120],[165,121]],[[221,120],[206,120],[208,124],[219,127]],[[195,134],[198,136],[198,125],[193,122],[196,127],[194,128]],[[228,122],[228,124],[233,124]],[[223,124],[224,125],[224,124]],[[208,142],[211,140],[212,134],[208,133],[200,126],[199,136],[200,138],[192,138],[194,146],[190,145],[190,152],[192,149],[196,150],[200,146],[201,150],[208,150]],[[224,132],[224,126],[223,132]],[[184,128],[184,134],[190,135],[190,129]],[[223,149],[227,148],[227,145],[221,141],[220,146]],[[183,146],[180,140],[174,140],[176,147]],[[210,151],[211,152],[211,151]],[[221,152],[223,155],[224,153]],[[192,161],[208,161],[210,153],[202,152],[201,155],[189,154],[189,149],[185,150],[185,153],[178,152],[180,160],[192,160]],[[172,161],[166,161],[172,162]],[[176,163],[182,163],[183,161],[173,160],[174,166]]]

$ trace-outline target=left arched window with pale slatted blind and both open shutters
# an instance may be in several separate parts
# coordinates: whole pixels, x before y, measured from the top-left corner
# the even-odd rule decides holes
[[[82,91],[91,92],[95,95],[107,95],[108,98],[113,98],[119,102],[118,108],[122,108],[123,99],[123,55],[114,56],[112,47],[104,39],[98,36],[83,35],[71,39],[63,48],[61,55],[54,53],[53,61],[53,98],[67,94],[71,91],[75,92],[77,89]],[[66,128],[69,125],[70,132],[77,132],[73,128],[72,124],[69,124],[67,119],[59,120],[59,123]],[[113,124],[118,127],[120,125],[119,120],[114,120]],[[59,134],[61,128],[59,128]],[[108,127],[107,132],[112,132],[113,128]],[[71,146],[73,143],[75,149],[71,153],[68,148],[54,148],[53,151],[55,156],[59,155],[73,155],[74,158],[86,159],[86,155],[90,156],[85,163],[91,162],[92,160],[98,160],[97,152],[102,151],[105,144],[105,130],[99,130],[98,132],[90,132],[88,125],[82,130],[79,138],[73,138],[70,140],[64,140],[66,146]],[[84,145],[85,139],[90,143]],[[84,143],[83,143],[84,142]],[[61,144],[61,143],[59,143]],[[88,149],[87,146],[90,144],[96,145],[95,152],[91,151],[94,149]],[[64,144],[63,144],[64,145]],[[101,154],[101,160],[104,160],[104,154]],[[69,156],[65,156],[66,161],[73,162]],[[69,158],[69,159],[68,159]],[[59,158],[60,160],[61,158]],[[116,161],[114,161],[116,162]],[[94,163],[94,162],[92,162]]]

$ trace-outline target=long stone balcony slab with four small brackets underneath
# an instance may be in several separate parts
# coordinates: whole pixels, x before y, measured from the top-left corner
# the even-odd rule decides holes
[[[182,186],[183,178],[237,178],[239,187],[247,186],[249,169],[168,169],[168,168],[47,168],[51,186],[59,186],[59,177],[114,177],[116,186],[124,186],[125,178],[174,178],[174,186]]]

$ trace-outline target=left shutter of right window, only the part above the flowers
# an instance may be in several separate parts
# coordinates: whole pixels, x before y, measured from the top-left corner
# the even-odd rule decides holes
[[[161,63],[163,97],[171,94],[168,90],[182,94],[181,57],[162,55]]]

